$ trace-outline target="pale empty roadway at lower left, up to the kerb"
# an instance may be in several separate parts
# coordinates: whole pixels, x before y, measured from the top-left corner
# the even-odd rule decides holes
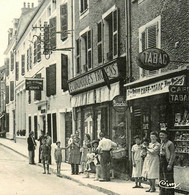
[[[0,195],[89,195],[103,193],[29,165],[21,155],[0,146]]]

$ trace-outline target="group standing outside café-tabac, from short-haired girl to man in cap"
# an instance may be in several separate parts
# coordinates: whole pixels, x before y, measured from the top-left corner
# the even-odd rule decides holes
[[[158,142],[160,138],[161,143]],[[161,130],[150,133],[150,141],[147,138],[141,140],[135,136],[135,145],[132,146],[132,177],[135,178],[133,188],[143,188],[142,178],[149,180],[150,188],[146,192],[155,192],[156,179],[168,184],[174,183],[173,170],[175,149],[174,144],[168,139],[168,132]],[[173,195],[174,189],[160,186],[160,195]]]

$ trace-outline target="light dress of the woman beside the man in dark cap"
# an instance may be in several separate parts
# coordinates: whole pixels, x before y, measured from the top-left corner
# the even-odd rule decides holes
[[[160,143],[150,143],[147,156],[144,160],[142,177],[146,179],[159,178],[159,151]]]

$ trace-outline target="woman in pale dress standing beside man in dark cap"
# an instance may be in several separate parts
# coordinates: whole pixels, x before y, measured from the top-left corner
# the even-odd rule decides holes
[[[160,143],[158,143],[157,139],[158,135],[155,132],[151,132],[149,146],[143,146],[147,150],[147,156],[144,160],[142,176],[150,182],[150,189],[146,192],[156,191],[155,180],[159,178]]]

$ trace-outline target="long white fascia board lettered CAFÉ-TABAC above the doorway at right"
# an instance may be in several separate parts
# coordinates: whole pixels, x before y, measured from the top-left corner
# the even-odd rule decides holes
[[[183,86],[185,75],[168,78],[142,87],[127,89],[127,100],[168,93],[170,85]]]

